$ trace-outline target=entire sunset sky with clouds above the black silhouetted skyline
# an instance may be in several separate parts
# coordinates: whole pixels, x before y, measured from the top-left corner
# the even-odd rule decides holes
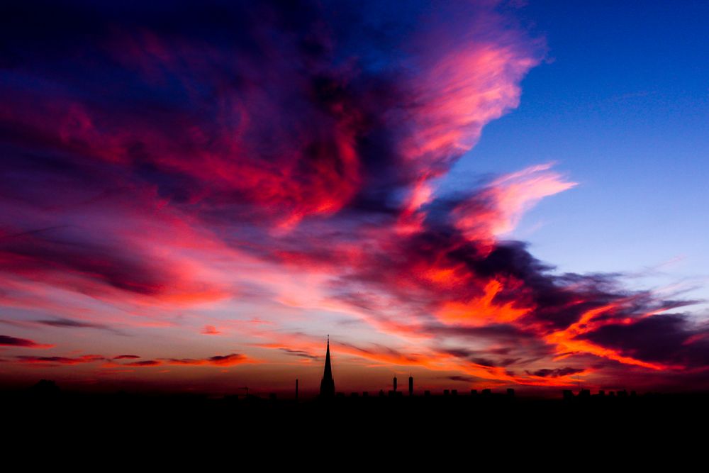
[[[0,385],[709,389],[706,2],[6,2]]]

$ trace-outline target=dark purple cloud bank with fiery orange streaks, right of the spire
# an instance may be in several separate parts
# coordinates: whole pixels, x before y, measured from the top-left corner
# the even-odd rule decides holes
[[[459,199],[475,200],[476,195]],[[395,243],[380,245],[381,251],[367,255],[337,286],[338,299],[371,311],[372,317],[386,324],[391,320],[377,314],[378,308],[366,302],[373,298],[365,297],[364,302],[357,299],[367,291],[380,296],[387,294],[396,301],[391,304],[413,309],[409,313],[415,315],[415,320],[423,320],[420,329],[424,333],[440,337],[440,352],[484,367],[533,365],[542,357],[554,354],[554,344],[547,340],[558,340],[558,347],[579,346],[574,342],[586,340],[593,343],[584,345],[588,353],[610,356],[624,363],[632,364],[636,360],[637,364],[644,363],[654,369],[706,365],[709,360],[706,328],[693,325],[685,314],[647,316],[696,301],[661,299],[650,291],[627,291],[623,275],[617,273],[556,274],[553,267],[535,259],[524,243],[469,240],[451,220],[450,209],[456,206],[448,201],[446,206],[432,209],[441,213],[429,214],[422,230],[398,235]],[[484,204],[479,208],[485,208]],[[454,276],[448,278],[450,282],[432,284],[419,275],[430,268],[441,267],[455,268]],[[521,309],[521,315],[512,316],[506,322],[475,323],[474,326],[468,326],[464,318],[459,323],[440,323],[426,315],[445,311],[447,304],[454,301],[465,306],[471,300],[484,299],[491,281],[498,284],[486,303],[496,308],[491,313],[504,318],[506,314],[500,308],[508,306],[513,310]],[[350,292],[352,288],[356,292]],[[472,309],[470,317],[476,316],[475,310],[486,308]],[[487,345],[494,341],[511,343],[518,348],[506,348],[504,354],[513,356],[498,359],[489,357],[486,348],[450,348],[447,339],[452,337],[478,343],[484,340]],[[603,352],[605,348],[611,350],[610,355]],[[574,353],[567,353],[570,354]],[[527,373],[561,377],[575,373],[570,370],[536,369]]]

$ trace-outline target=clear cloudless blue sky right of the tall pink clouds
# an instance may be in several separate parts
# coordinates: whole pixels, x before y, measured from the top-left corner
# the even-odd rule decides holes
[[[546,60],[458,163],[456,187],[557,162],[579,185],[540,202],[513,237],[563,272],[670,262],[639,284],[682,281],[709,298],[708,15],[707,2],[530,2],[518,16],[545,38]]]

